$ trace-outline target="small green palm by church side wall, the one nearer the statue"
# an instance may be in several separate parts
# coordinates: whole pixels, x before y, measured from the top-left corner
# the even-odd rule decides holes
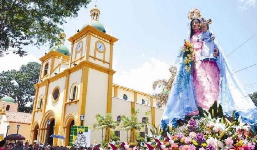
[[[138,121],[137,113],[139,113],[139,110],[134,111],[134,109],[132,109],[131,111],[132,111],[131,119],[129,119],[128,117],[126,117],[124,115],[121,116],[121,120],[122,120],[121,129],[127,131],[127,139],[128,139],[128,130],[131,130],[130,142],[135,142],[136,141],[136,130],[140,130],[141,128],[143,128],[145,126],[145,124]]]

